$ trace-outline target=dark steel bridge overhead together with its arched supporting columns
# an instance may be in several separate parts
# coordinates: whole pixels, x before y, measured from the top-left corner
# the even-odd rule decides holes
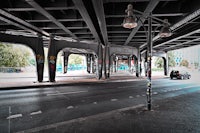
[[[128,4],[133,5],[137,18],[133,29],[122,27]],[[150,44],[152,55],[164,59],[167,74],[168,51],[200,42],[197,0],[7,0],[0,7],[0,41],[33,49],[39,82],[43,80],[45,59],[49,62],[49,80],[55,81],[59,51],[65,53],[66,65],[69,54],[85,54],[88,71],[95,59],[100,79],[103,71],[109,78],[117,55],[134,58],[139,76],[141,57],[147,61]],[[164,19],[172,32],[167,38],[159,36]],[[49,48],[47,58],[44,47]]]

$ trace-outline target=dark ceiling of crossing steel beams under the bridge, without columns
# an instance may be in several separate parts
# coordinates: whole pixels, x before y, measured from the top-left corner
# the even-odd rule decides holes
[[[129,3],[140,20],[134,29],[122,27]],[[39,33],[144,51],[152,12],[154,50],[170,51],[200,42],[199,0],[5,0],[0,7],[2,33]],[[157,36],[163,19],[171,24],[171,37]]]

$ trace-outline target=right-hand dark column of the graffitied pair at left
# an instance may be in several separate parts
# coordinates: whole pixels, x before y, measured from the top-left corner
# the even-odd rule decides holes
[[[48,66],[49,66],[49,81],[55,82],[56,76],[56,61],[58,51],[54,43],[53,37],[50,38],[49,51],[48,51]]]

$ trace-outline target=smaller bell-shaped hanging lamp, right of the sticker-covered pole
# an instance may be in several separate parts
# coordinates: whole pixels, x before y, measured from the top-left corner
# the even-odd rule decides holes
[[[160,37],[170,37],[172,32],[169,27],[169,23],[167,19],[164,19],[163,27],[160,30],[159,36]]]

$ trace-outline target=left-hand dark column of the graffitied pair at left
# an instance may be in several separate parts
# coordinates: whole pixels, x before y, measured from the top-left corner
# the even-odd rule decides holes
[[[43,48],[43,41],[42,37],[38,37],[38,41],[36,45],[36,51],[35,51],[35,58],[36,58],[36,64],[37,64],[37,80],[38,82],[43,81],[43,74],[44,74],[44,48]]]

